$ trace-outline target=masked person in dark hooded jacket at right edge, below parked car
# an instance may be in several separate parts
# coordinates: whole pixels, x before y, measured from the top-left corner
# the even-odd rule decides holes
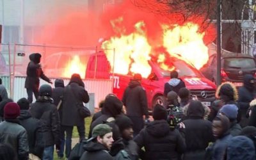
[[[255,78],[251,74],[244,75],[243,86],[238,89],[238,100],[237,103],[241,110],[241,127],[248,125],[248,118],[246,118],[246,112],[250,107],[250,102],[255,98]]]

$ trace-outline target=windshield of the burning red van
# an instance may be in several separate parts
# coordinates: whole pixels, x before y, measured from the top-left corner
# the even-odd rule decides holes
[[[196,68],[189,66],[185,61],[176,60],[172,61],[177,72],[179,72],[179,77],[191,76],[191,77],[201,77],[201,74]],[[170,77],[170,70],[161,70],[164,77]]]

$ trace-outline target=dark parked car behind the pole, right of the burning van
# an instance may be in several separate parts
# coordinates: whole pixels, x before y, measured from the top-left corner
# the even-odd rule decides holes
[[[217,54],[212,54],[207,63],[200,69],[205,77],[216,82]],[[243,85],[243,76],[256,76],[256,63],[252,56],[241,53],[228,53],[221,56],[221,82],[230,81],[237,87]]]

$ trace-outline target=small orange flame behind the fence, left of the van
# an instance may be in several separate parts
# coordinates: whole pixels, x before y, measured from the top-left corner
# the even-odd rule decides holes
[[[81,63],[79,56],[73,56],[72,60],[68,61],[64,70],[64,77],[71,77],[72,74],[79,74],[81,77],[85,76],[86,66]]]

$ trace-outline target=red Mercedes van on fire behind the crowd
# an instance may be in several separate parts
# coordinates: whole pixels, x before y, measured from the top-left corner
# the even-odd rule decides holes
[[[97,79],[114,79],[113,93],[119,99],[122,99],[125,88],[128,86],[132,74],[122,75],[111,73],[111,67],[104,54],[99,52],[97,54],[97,65],[95,65],[95,54],[90,56],[86,67],[86,78]],[[163,95],[164,83],[170,79],[170,71],[161,69],[157,63],[148,61],[152,67],[151,74],[147,78],[143,78],[141,85],[147,92],[148,109],[152,109],[154,104],[166,104],[166,98]],[[179,77],[184,81],[186,87],[191,90],[191,94],[201,100],[205,105],[211,106],[211,102],[215,100],[216,85],[206,79],[201,72],[195,67],[189,65],[185,61],[178,58],[172,58],[172,65],[179,72]],[[96,67],[96,68],[95,68]]]

